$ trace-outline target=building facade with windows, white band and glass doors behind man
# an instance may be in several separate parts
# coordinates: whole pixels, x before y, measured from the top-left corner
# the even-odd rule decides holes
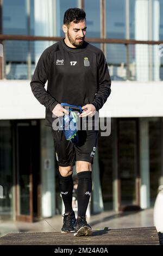
[[[73,7],[86,11],[86,40],[103,50],[112,80],[99,112],[90,212],[152,207],[163,184],[163,2],[0,4],[1,218],[34,221],[62,212],[51,129],[29,83],[43,50],[64,36],[63,16]]]

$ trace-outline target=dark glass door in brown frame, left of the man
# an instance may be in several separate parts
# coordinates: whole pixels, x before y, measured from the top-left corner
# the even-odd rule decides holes
[[[16,125],[16,220],[33,221],[33,175],[30,123]]]

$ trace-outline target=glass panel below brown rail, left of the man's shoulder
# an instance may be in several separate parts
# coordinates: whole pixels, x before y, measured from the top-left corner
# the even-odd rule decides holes
[[[30,80],[42,52],[54,43],[52,41],[5,41],[5,78]],[[31,66],[28,66],[28,56],[31,59],[29,62]]]

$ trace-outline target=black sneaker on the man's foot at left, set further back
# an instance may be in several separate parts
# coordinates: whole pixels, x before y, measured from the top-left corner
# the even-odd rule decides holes
[[[61,228],[61,233],[74,232],[74,224],[76,223],[74,211],[64,214],[62,217],[64,217],[64,224]]]

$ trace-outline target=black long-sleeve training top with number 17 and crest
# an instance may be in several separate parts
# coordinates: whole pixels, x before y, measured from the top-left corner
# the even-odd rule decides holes
[[[80,48],[70,48],[64,39],[42,53],[30,86],[36,99],[46,107],[48,126],[52,125],[52,111],[58,103],[91,103],[98,111],[111,92],[103,52],[86,41]]]

